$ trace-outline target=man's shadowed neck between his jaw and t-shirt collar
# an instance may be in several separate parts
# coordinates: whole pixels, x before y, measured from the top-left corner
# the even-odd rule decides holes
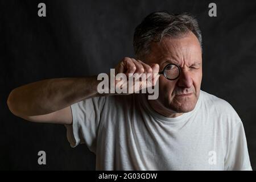
[[[164,117],[176,118],[179,115],[183,114],[183,113],[177,113],[171,109],[167,109],[162,104],[160,104],[158,100],[147,100],[147,101],[148,101],[148,104],[152,107],[152,109],[154,109],[157,113],[163,115]]]

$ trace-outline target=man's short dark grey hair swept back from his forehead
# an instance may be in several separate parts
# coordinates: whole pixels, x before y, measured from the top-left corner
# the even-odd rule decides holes
[[[151,42],[160,42],[164,36],[180,37],[193,32],[202,49],[202,35],[194,16],[187,13],[168,14],[167,12],[151,13],[135,28],[133,47],[137,57],[149,53]]]

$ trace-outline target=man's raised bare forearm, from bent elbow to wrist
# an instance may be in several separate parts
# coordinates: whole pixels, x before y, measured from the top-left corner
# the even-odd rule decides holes
[[[14,89],[8,98],[15,115],[42,115],[99,96],[97,77],[53,78]]]

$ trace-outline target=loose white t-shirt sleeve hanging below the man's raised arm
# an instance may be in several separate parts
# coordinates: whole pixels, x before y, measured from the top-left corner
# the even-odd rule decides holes
[[[67,128],[67,139],[71,147],[85,143],[89,150],[96,153],[96,138],[101,122],[106,97],[93,97],[71,105],[72,125]]]

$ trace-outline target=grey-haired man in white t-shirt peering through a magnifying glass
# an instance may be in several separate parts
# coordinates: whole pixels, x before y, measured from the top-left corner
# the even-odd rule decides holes
[[[177,78],[153,78],[156,100],[100,94],[95,76],[24,85],[7,104],[28,121],[64,124],[71,146],[86,143],[99,170],[251,170],[240,117],[228,102],[200,90],[201,42],[193,17],[152,13],[135,29],[136,59],[125,57],[115,71],[159,73],[177,65]]]

